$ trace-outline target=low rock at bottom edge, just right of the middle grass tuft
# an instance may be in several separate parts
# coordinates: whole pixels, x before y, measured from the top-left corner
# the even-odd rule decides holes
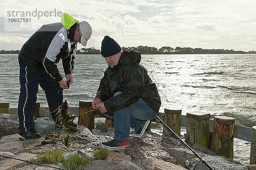
[[[84,167],[80,167],[81,170],[129,170],[126,167],[120,165],[111,164],[108,161],[98,160],[93,161],[93,164],[89,164]]]

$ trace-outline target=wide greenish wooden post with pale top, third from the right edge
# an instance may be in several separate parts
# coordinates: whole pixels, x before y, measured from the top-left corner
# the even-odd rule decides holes
[[[201,144],[209,146],[209,118],[205,112],[189,112],[186,114],[187,128],[185,141],[189,144]]]

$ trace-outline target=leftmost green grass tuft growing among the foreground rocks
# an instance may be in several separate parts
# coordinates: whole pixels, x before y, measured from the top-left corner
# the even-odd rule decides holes
[[[34,161],[40,164],[58,164],[64,161],[63,152],[60,150],[38,153],[36,154],[36,157],[37,158],[35,158]]]

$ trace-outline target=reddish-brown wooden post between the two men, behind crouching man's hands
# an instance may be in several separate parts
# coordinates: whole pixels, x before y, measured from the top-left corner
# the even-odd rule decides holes
[[[94,129],[94,112],[92,101],[79,101],[79,115],[78,115],[78,124],[81,124],[87,127],[90,131]]]

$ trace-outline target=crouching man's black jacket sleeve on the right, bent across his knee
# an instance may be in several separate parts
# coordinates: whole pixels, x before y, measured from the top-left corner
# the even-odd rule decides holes
[[[145,86],[145,71],[139,64],[126,69],[123,75],[125,90],[104,102],[109,113],[128,107],[139,100]]]

